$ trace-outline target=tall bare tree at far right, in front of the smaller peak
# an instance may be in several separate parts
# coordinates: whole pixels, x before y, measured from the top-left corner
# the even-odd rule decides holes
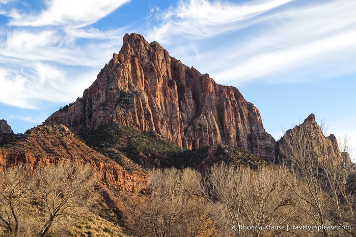
[[[285,167],[292,173],[285,183],[314,223],[341,226],[346,224],[346,216],[353,219],[345,189],[350,164],[342,157],[346,154],[324,137],[322,129],[314,123],[304,123],[288,130],[279,143]],[[330,235],[325,228],[322,232]],[[343,234],[350,233],[344,230]]]

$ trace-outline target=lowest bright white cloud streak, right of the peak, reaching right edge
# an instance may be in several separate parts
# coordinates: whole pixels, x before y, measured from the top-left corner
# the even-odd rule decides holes
[[[292,45],[283,49],[275,48],[271,51],[254,54],[246,57],[244,61],[235,58],[236,61],[238,60],[236,66],[222,70],[218,77],[228,78],[230,82],[235,81],[235,83],[250,79],[283,82],[286,79],[285,77],[275,76],[275,79],[273,79],[270,75],[277,75],[286,71],[291,73],[306,66],[309,73],[317,70],[313,66],[319,69],[321,67],[322,70],[324,68],[328,69],[325,72],[318,72],[319,75],[315,79],[320,79],[320,77],[326,76],[325,74],[329,74],[326,78],[332,76],[330,74],[332,70],[332,74],[335,76],[335,74],[338,74],[335,71],[336,69],[339,70],[339,74],[349,73],[347,70],[345,71],[344,66],[351,62],[352,55],[356,53],[356,42],[353,40],[356,37],[355,29],[349,29],[337,35]],[[356,66],[351,71],[355,69]],[[299,73],[296,78],[289,78],[289,82],[311,80],[310,77],[300,78],[302,75],[305,75],[305,73]]]

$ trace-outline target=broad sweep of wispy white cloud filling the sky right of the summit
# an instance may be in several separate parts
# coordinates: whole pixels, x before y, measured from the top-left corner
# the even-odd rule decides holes
[[[356,71],[354,9],[347,0],[180,1],[149,37],[219,82],[300,82]]]

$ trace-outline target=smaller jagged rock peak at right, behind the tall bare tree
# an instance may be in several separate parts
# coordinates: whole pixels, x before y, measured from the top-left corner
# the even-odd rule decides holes
[[[338,141],[334,134],[325,137],[320,126],[315,121],[315,115],[310,114],[304,122],[286,131],[278,141],[280,158],[285,157],[288,149],[294,147],[294,153],[303,151],[305,156],[313,159],[326,159],[327,162],[351,164],[349,155],[340,152]]]

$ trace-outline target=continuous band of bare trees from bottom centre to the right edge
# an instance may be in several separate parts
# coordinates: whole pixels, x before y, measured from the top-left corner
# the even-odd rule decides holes
[[[256,169],[151,169],[149,194],[132,195],[126,227],[157,237],[355,236],[355,175],[345,153],[299,126],[280,154],[278,164]]]

